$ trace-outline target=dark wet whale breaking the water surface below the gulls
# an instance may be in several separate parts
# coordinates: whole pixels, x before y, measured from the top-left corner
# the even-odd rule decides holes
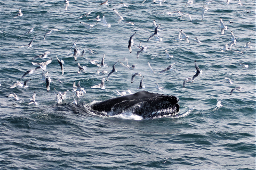
[[[110,98],[91,105],[95,114],[115,116],[130,112],[143,118],[174,116],[178,114],[179,98],[172,95],[139,91],[132,95]]]

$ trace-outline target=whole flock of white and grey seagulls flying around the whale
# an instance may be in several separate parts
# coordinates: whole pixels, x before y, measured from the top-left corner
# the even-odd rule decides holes
[[[146,1],[146,0],[144,0],[144,1],[142,2],[142,4],[145,3],[145,1]],[[66,2],[65,10],[68,10],[69,1],[68,1],[68,0],[65,0],[65,2]],[[121,2],[122,2],[122,1],[121,1]],[[153,0],[153,2],[156,2],[156,0]],[[164,1],[164,0],[157,0],[157,2],[159,3],[159,5],[162,5],[162,3],[164,3],[165,1]],[[213,0],[206,2],[206,4],[210,4],[211,2],[213,2]],[[238,3],[239,3],[239,5],[242,5],[241,1],[239,1]],[[193,0],[188,0],[188,2],[186,3],[186,5],[190,5],[190,4],[193,4]],[[207,7],[206,4],[204,4],[203,7],[202,7],[202,14],[201,14],[202,20],[204,19],[205,12],[208,10],[208,7]],[[228,4],[229,4],[229,0],[227,0],[227,5],[228,5]],[[105,1],[105,2],[102,2],[102,3],[99,4],[99,5],[107,5],[107,6],[108,6],[108,5],[109,5],[109,4],[108,4],[108,0]],[[125,6],[125,4],[124,4],[124,6]],[[126,5],[126,6],[127,6],[127,5]],[[175,9],[175,10],[176,10],[176,9]],[[190,16],[189,14],[183,14],[183,13],[181,13],[179,10],[176,10],[176,11],[177,11],[177,12],[175,12],[175,13],[177,13],[177,14],[180,15],[180,19],[181,19],[183,16],[188,16],[188,17],[190,18],[190,20],[192,21],[191,16]],[[86,13],[86,14],[83,14],[83,15],[79,16],[77,19],[81,19],[81,18],[84,18],[84,17],[87,18],[89,15],[92,14],[92,12],[93,12],[93,11],[90,11],[90,12],[88,12],[88,13]],[[116,18],[117,18],[118,22],[122,22],[122,21],[124,20],[124,18],[122,17],[122,15],[119,14],[116,9],[114,9],[113,12],[116,14]],[[172,14],[173,14],[173,13],[169,13],[169,15],[172,15]],[[21,16],[23,16],[23,13],[22,13],[21,9],[19,9],[18,14],[17,14],[16,16],[14,16],[13,18],[19,18],[19,17],[21,17]],[[110,27],[111,27],[111,24],[109,24],[109,23],[106,21],[105,15],[102,16],[102,19],[100,18],[100,15],[98,15],[97,18],[95,18],[95,19],[93,19],[93,20],[95,20],[97,23],[98,23],[98,22],[101,22],[102,25],[103,25],[103,27],[107,27],[107,28],[110,28]],[[93,25],[93,24],[88,24],[88,23],[85,23],[85,22],[80,22],[80,23],[81,23],[87,30],[88,30],[88,29],[92,29],[92,28],[97,24],[97,23],[96,23],[95,25]],[[129,24],[134,24],[133,22],[128,22],[128,23],[129,23]],[[161,24],[156,24],[156,21],[153,20],[153,25],[154,25],[154,32],[153,32],[152,35],[150,35],[150,36],[148,37],[147,41],[150,41],[150,39],[152,39],[153,37],[155,38],[155,41],[162,41],[162,38],[160,37],[160,34],[159,34],[159,28],[161,27]],[[32,33],[32,32],[34,31],[34,28],[35,28],[35,27],[33,27],[33,28],[31,28],[30,30],[28,30],[27,32],[23,33],[23,35],[21,35],[19,38],[25,36],[26,34]],[[225,30],[228,30],[227,26],[225,25],[225,23],[223,22],[223,20],[222,20],[221,18],[220,18],[220,29],[221,29],[221,30],[220,30],[221,35],[223,35],[223,34],[225,33]],[[50,35],[50,34],[51,34],[52,32],[54,32],[54,31],[59,31],[59,29],[51,29],[50,31],[47,31],[47,32],[45,33],[45,35],[44,35],[43,41],[45,41],[45,39],[47,38],[47,37],[46,37],[47,35]],[[132,48],[134,48],[134,46],[135,46],[135,45],[134,45],[133,38],[134,38],[134,36],[136,35],[136,33],[137,33],[137,32],[134,32],[133,35],[130,36],[130,39],[129,39],[129,41],[128,41],[128,50],[129,50],[130,53],[132,53]],[[28,47],[28,48],[32,47],[32,46],[33,46],[33,41],[35,40],[35,38],[36,38],[36,36],[34,36],[34,38],[29,42],[28,45],[19,46],[19,48],[20,48],[20,47]],[[178,36],[177,36],[177,38],[175,38],[175,40],[176,40],[176,41],[185,40],[187,43],[190,43],[190,40],[193,40],[193,41],[195,41],[197,44],[201,44],[201,43],[202,43],[202,42],[199,40],[198,37],[196,37],[195,39],[189,39],[189,38],[190,38],[190,37],[187,36],[186,33],[181,30],[181,31],[179,31]],[[82,56],[82,57],[83,57],[83,56],[85,56],[86,53],[88,53],[88,54],[91,56],[91,55],[94,55],[94,54],[96,53],[96,52],[94,52],[94,51],[93,51],[92,49],[90,49],[90,48],[84,48],[83,51],[82,51],[82,53],[81,53],[81,52],[77,49],[77,40],[78,40],[78,38],[75,40],[75,42],[73,43],[73,45],[72,45],[71,48],[69,49],[69,52],[67,53],[67,55],[69,55],[69,53],[71,52],[71,50],[74,48],[73,57],[74,57],[74,60],[75,60],[75,61],[77,61],[77,57],[78,57],[78,56]],[[244,46],[244,48],[252,48],[252,47],[250,46],[250,43],[251,43],[251,42],[248,42],[248,43]],[[221,52],[225,52],[225,50],[231,50],[231,48],[232,48],[233,45],[236,45],[236,38],[235,38],[235,35],[234,35],[233,31],[231,31],[231,42],[230,42],[229,44],[224,45],[223,48],[221,49]],[[135,48],[138,49],[137,55],[136,55],[137,58],[139,58],[139,56],[140,56],[141,53],[145,53],[146,50],[147,50],[147,47],[146,47],[146,46],[142,46],[142,45],[141,45],[141,42],[139,43],[138,46],[135,46]],[[128,51],[128,50],[127,50],[127,51]],[[49,55],[49,53],[50,53],[50,52],[45,52],[45,53],[42,54],[42,55],[37,55],[37,56],[35,56],[35,57],[33,58],[33,60],[36,61],[38,58],[41,58],[41,59],[47,58],[48,55]],[[241,52],[241,53],[242,53],[242,52]],[[165,49],[165,55],[166,55],[165,58],[169,58],[169,59],[173,58],[173,56],[170,55],[170,54],[167,52],[167,49]],[[26,71],[26,72],[22,75],[22,77],[20,78],[20,80],[25,79],[25,77],[26,77],[28,74],[33,74],[36,70],[42,69],[42,78],[41,78],[41,80],[45,82],[45,84],[46,84],[46,85],[45,85],[45,86],[46,86],[46,90],[47,90],[47,91],[50,91],[50,84],[51,84],[51,81],[52,81],[52,80],[51,80],[51,78],[50,78],[48,72],[46,71],[46,67],[47,67],[47,65],[49,65],[49,64],[52,63],[52,60],[53,60],[53,59],[51,58],[50,60],[47,60],[47,61],[41,62],[41,63],[39,63],[39,62],[31,62],[31,64],[33,64],[33,65],[36,66],[36,68]],[[64,63],[63,60],[60,60],[57,55],[56,55],[56,60],[58,61],[59,65],[60,65],[61,75],[63,75],[63,74],[64,74],[64,64],[65,64],[65,63]],[[103,67],[103,68],[108,67],[107,64],[105,64],[105,54],[103,55],[101,61],[99,61],[99,60],[90,60],[90,59],[87,58],[87,57],[86,57],[86,60],[88,60],[89,62],[91,62],[91,63],[94,64],[94,65],[97,65],[98,68],[100,68],[100,67]],[[108,71],[97,71],[98,74],[108,74],[108,75],[107,75],[106,78],[105,78],[105,77],[102,78],[100,84],[97,84],[97,85],[95,85],[95,86],[91,86],[91,88],[105,89],[105,88],[106,88],[106,86],[105,86],[105,81],[108,81],[109,78],[110,78],[110,75],[113,74],[113,73],[115,73],[115,72],[117,71],[116,68],[115,68],[115,66],[116,66],[117,63],[119,63],[121,66],[125,67],[125,69],[134,70],[134,69],[136,68],[136,66],[135,66],[136,64],[130,66],[130,65],[128,64],[128,61],[127,61],[126,58],[124,59],[124,61],[127,62],[127,64],[124,64],[124,63],[122,63],[121,61],[116,61],[116,62],[113,64],[112,70],[111,70],[110,72],[108,72]],[[174,64],[175,64],[175,63],[170,64],[170,65],[167,66],[165,69],[163,69],[162,71],[158,72],[157,74],[162,74],[162,73],[164,73],[164,72],[166,72],[166,71],[172,70],[172,67],[173,67]],[[193,82],[195,81],[195,79],[198,77],[198,75],[202,74],[202,70],[199,69],[199,67],[198,67],[198,65],[197,65],[197,63],[196,63],[196,61],[194,62],[194,64],[195,64],[196,73],[193,75],[193,77],[188,77],[188,78],[186,78],[186,80],[183,81],[183,87],[185,87],[186,83],[188,83],[188,82],[193,83]],[[240,64],[243,65],[245,68],[249,67],[248,65],[245,65],[245,64],[242,64],[242,63],[240,63]],[[79,70],[77,71],[77,74],[80,74],[80,73],[86,71],[86,69],[87,69],[86,66],[82,66],[80,63],[77,63],[77,66],[78,66],[78,69],[79,69]],[[151,71],[151,73],[153,73],[153,74],[156,73],[156,72],[153,70],[153,68],[151,67],[151,65],[150,65],[149,62],[148,62],[148,68],[149,68],[149,70]],[[133,73],[132,76],[131,76],[131,83],[133,83],[135,77],[142,77],[138,89],[145,88],[145,86],[143,85],[143,78],[144,78],[144,77],[141,75],[141,73],[140,73],[140,72]],[[233,82],[232,82],[229,78],[225,78],[225,79],[227,80],[228,83],[233,84]],[[28,82],[29,82],[30,80],[31,80],[31,79],[25,80],[24,83],[21,83],[20,81],[17,81],[17,82],[14,83],[10,88],[12,88],[12,89],[13,89],[13,88],[17,88],[17,87],[28,88]],[[58,81],[61,83],[60,80],[58,80]],[[1,84],[0,84],[0,86],[1,86]],[[163,89],[163,87],[160,87],[160,86],[158,85],[158,83],[156,83],[156,88],[157,88],[158,90],[162,90],[162,89]],[[56,100],[56,102],[57,102],[58,104],[62,103],[62,100],[65,100],[65,99],[66,99],[66,94],[67,94],[67,92],[68,92],[69,90],[66,90],[66,91],[64,91],[64,92],[57,91],[55,88],[54,88],[54,90],[57,92],[57,93],[55,94],[55,100]],[[231,92],[230,92],[230,95],[232,95],[235,90],[241,91],[241,87],[236,87],[236,88],[232,89]],[[73,98],[74,98],[74,102],[73,102],[73,103],[74,103],[74,104],[77,104],[76,97],[77,97],[77,98],[80,98],[81,96],[83,96],[84,94],[86,94],[86,90],[81,87],[80,81],[77,82],[77,83],[76,83],[75,81],[73,82],[73,90],[71,90],[71,91],[73,91]],[[132,94],[132,92],[131,92],[130,90],[127,90],[127,92],[129,92],[129,94]],[[117,93],[118,93],[119,95],[121,95],[121,96],[123,96],[123,95],[126,94],[126,92],[119,92],[119,91],[117,91]],[[14,98],[15,100],[19,100],[19,98],[18,98],[18,96],[17,96],[16,94],[10,94],[10,95],[8,95],[8,97],[12,97],[12,98]],[[36,93],[35,93],[35,92],[34,92],[33,96],[31,97],[30,102],[28,103],[28,105],[30,105],[30,104],[38,105],[38,103],[36,102]]]

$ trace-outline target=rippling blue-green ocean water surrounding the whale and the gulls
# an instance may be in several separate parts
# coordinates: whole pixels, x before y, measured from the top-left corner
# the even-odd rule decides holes
[[[206,1],[166,0],[158,1],[1,1],[0,2],[0,167],[1,169],[255,169],[255,1],[213,1],[206,6],[201,20],[201,9]],[[124,6],[126,4],[127,6]],[[21,8],[23,16],[13,18]],[[118,22],[113,9],[123,16]],[[178,10],[188,16],[182,16]],[[93,11],[90,15],[79,16]],[[171,12],[171,13],[170,13]],[[105,15],[111,24],[104,27],[95,18]],[[219,19],[228,29],[221,35]],[[159,38],[153,37],[153,20],[159,27]],[[80,22],[93,24],[86,29]],[[233,22],[233,23],[230,23]],[[129,22],[133,22],[131,24]],[[34,32],[20,37],[31,29]],[[51,29],[58,29],[44,35]],[[177,41],[180,30],[189,36],[190,43]],[[236,45],[221,52],[231,42],[234,32]],[[146,46],[145,53],[136,57],[138,48],[129,52],[131,35],[134,45]],[[33,41],[33,46],[28,45]],[[20,37],[20,38],[19,38]],[[193,39],[198,37],[201,44]],[[93,55],[85,53],[73,58],[77,40],[82,52],[91,48]],[[252,48],[244,48],[251,41]],[[165,58],[165,49],[173,58]],[[37,55],[50,52],[47,58],[32,60]],[[109,67],[99,68],[86,60],[101,60]],[[56,55],[65,62],[61,75]],[[106,75],[97,71],[111,71],[116,61],[129,65],[127,70],[119,63],[117,72],[105,82],[106,89],[93,89]],[[50,91],[40,80],[42,69],[35,69],[31,62],[45,62],[52,58],[46,70],[52,79]],[[193,83],[183,81],[195,74],[194,61],[202,70]],[[150,62],[156,74],[148,69]],[[78,74],[77,63],[86,66]],[[173,69],[157,74],[170,64]],[[240,63],[247,64],[245,68]],[[180,112],[177,116],[143,119],[131,113],[117,116],[99,116],[89,111],[91,103],[118,96],[117,91],[137,89],[141,77],[149,92],[177,96]],[[225,77],[231,79],[229,84]],[[31,79],[28,88],[10,88],[16,81]],[[59,80],[62,81],[60,83]],[[81,81],[86,94],[75,97],[73,104],[73,82]],[[155,84],[164,89],[158,91]],[[242,87],[239,92],[231,89]],[[67,99],[57,104],[57,91],[66,91]],[[28,105],[36,93],[38,106]],[[16,94],[19,100],[7,97]]]

